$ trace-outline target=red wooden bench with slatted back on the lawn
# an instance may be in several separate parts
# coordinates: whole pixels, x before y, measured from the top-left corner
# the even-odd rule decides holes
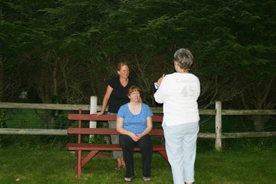
[[[77,173],[77,178],[82,176],[82,167],[86,165],[99,151],[121,151],[122,147],[120,145],[113,144],[94,144],[94,143],[82,143],[82,135],[119,135],[116,129],[102,129],[102,128],[82,128],[82,121],[116,121],[116,115],[100,115],[96,116],[93,114],[83,114],[82,110],[79,113],[68,114],[68,120],[78,120],[78,127],[69,127],[67,129],[67,134],[75,134],[78,136],[77,143],[67,143],[66,149],[75,151],[75,156],[77,156],[77,163],[75,165],[75,172]],[[152,116],[152,122],[162,122],[163,116]],[[163,129],[152,129],[151,136],[164,136]],[[138,147],[134,148],[134,151],[139,151]],[[167,154],[165,150],[165,145],[154,144],[153,150],[158,151],[158,153],[167,160]],[[82,156],[82,151],[90,151],[89,154]]]

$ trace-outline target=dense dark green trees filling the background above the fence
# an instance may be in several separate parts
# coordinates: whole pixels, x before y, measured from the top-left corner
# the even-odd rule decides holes
[[[99,104],[127,61],[151,106],[178,48],[194,54],[201,108],[275,109],[276,1],[0,1],[0,100]],[[264,122],[264,118],[253,117]],[[260,127],[261,129],[262,127]]]

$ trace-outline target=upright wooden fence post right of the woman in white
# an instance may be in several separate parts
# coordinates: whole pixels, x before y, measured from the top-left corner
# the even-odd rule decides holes
[[[221,151],[221,102],[216,101],[216,142],[214,147]]]

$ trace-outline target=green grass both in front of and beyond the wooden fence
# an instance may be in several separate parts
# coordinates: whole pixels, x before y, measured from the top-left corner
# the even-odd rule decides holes
[[[40,128],[42,119],[37,113],[42,115],[43,112],[7,111],[6,125],[8,128]],[[73,126],[72,122],[66,122],[66,116],[59,118],[57,127]],[[201,125],[202,132],[214,131],[212,118]],[[240,123],[234,123],[239,122],[236,116],[226,118],[226,122],[223,121],[223,129],[240,129],[237,126]],[[82,179],[77,180],[73,169],[75,155],[65,150],[66,142],[71,139],[75,142],[71,136],[0,135],[0,183],[124,183],[124,170],[114,169],[116,161],[111,156],[91,160],[83,167]],[[276,183],[275,142],[276,138],[223,139],[224,151],[217,152],[213,151],[214,140],[198,139],[196,184]],[[136,179],[132,183],[144,183],[139,153],[135,154],[135,159]],[[149,183],[172,183],[169,164],[156,153],[151,172]]]

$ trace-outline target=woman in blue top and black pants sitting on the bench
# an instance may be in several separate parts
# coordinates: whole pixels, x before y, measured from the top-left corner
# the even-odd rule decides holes
[[[142,179],[151,180],[152,144],[149,132],[152,129],[153,113],[147,104],[140,100],[138,86],[129,88],[130,102],[120,107],[117,113],[116,129],[121,134],[119,144],[127,166],[125,181],[134,179],[134,147],[138,146],[142,154]]]

